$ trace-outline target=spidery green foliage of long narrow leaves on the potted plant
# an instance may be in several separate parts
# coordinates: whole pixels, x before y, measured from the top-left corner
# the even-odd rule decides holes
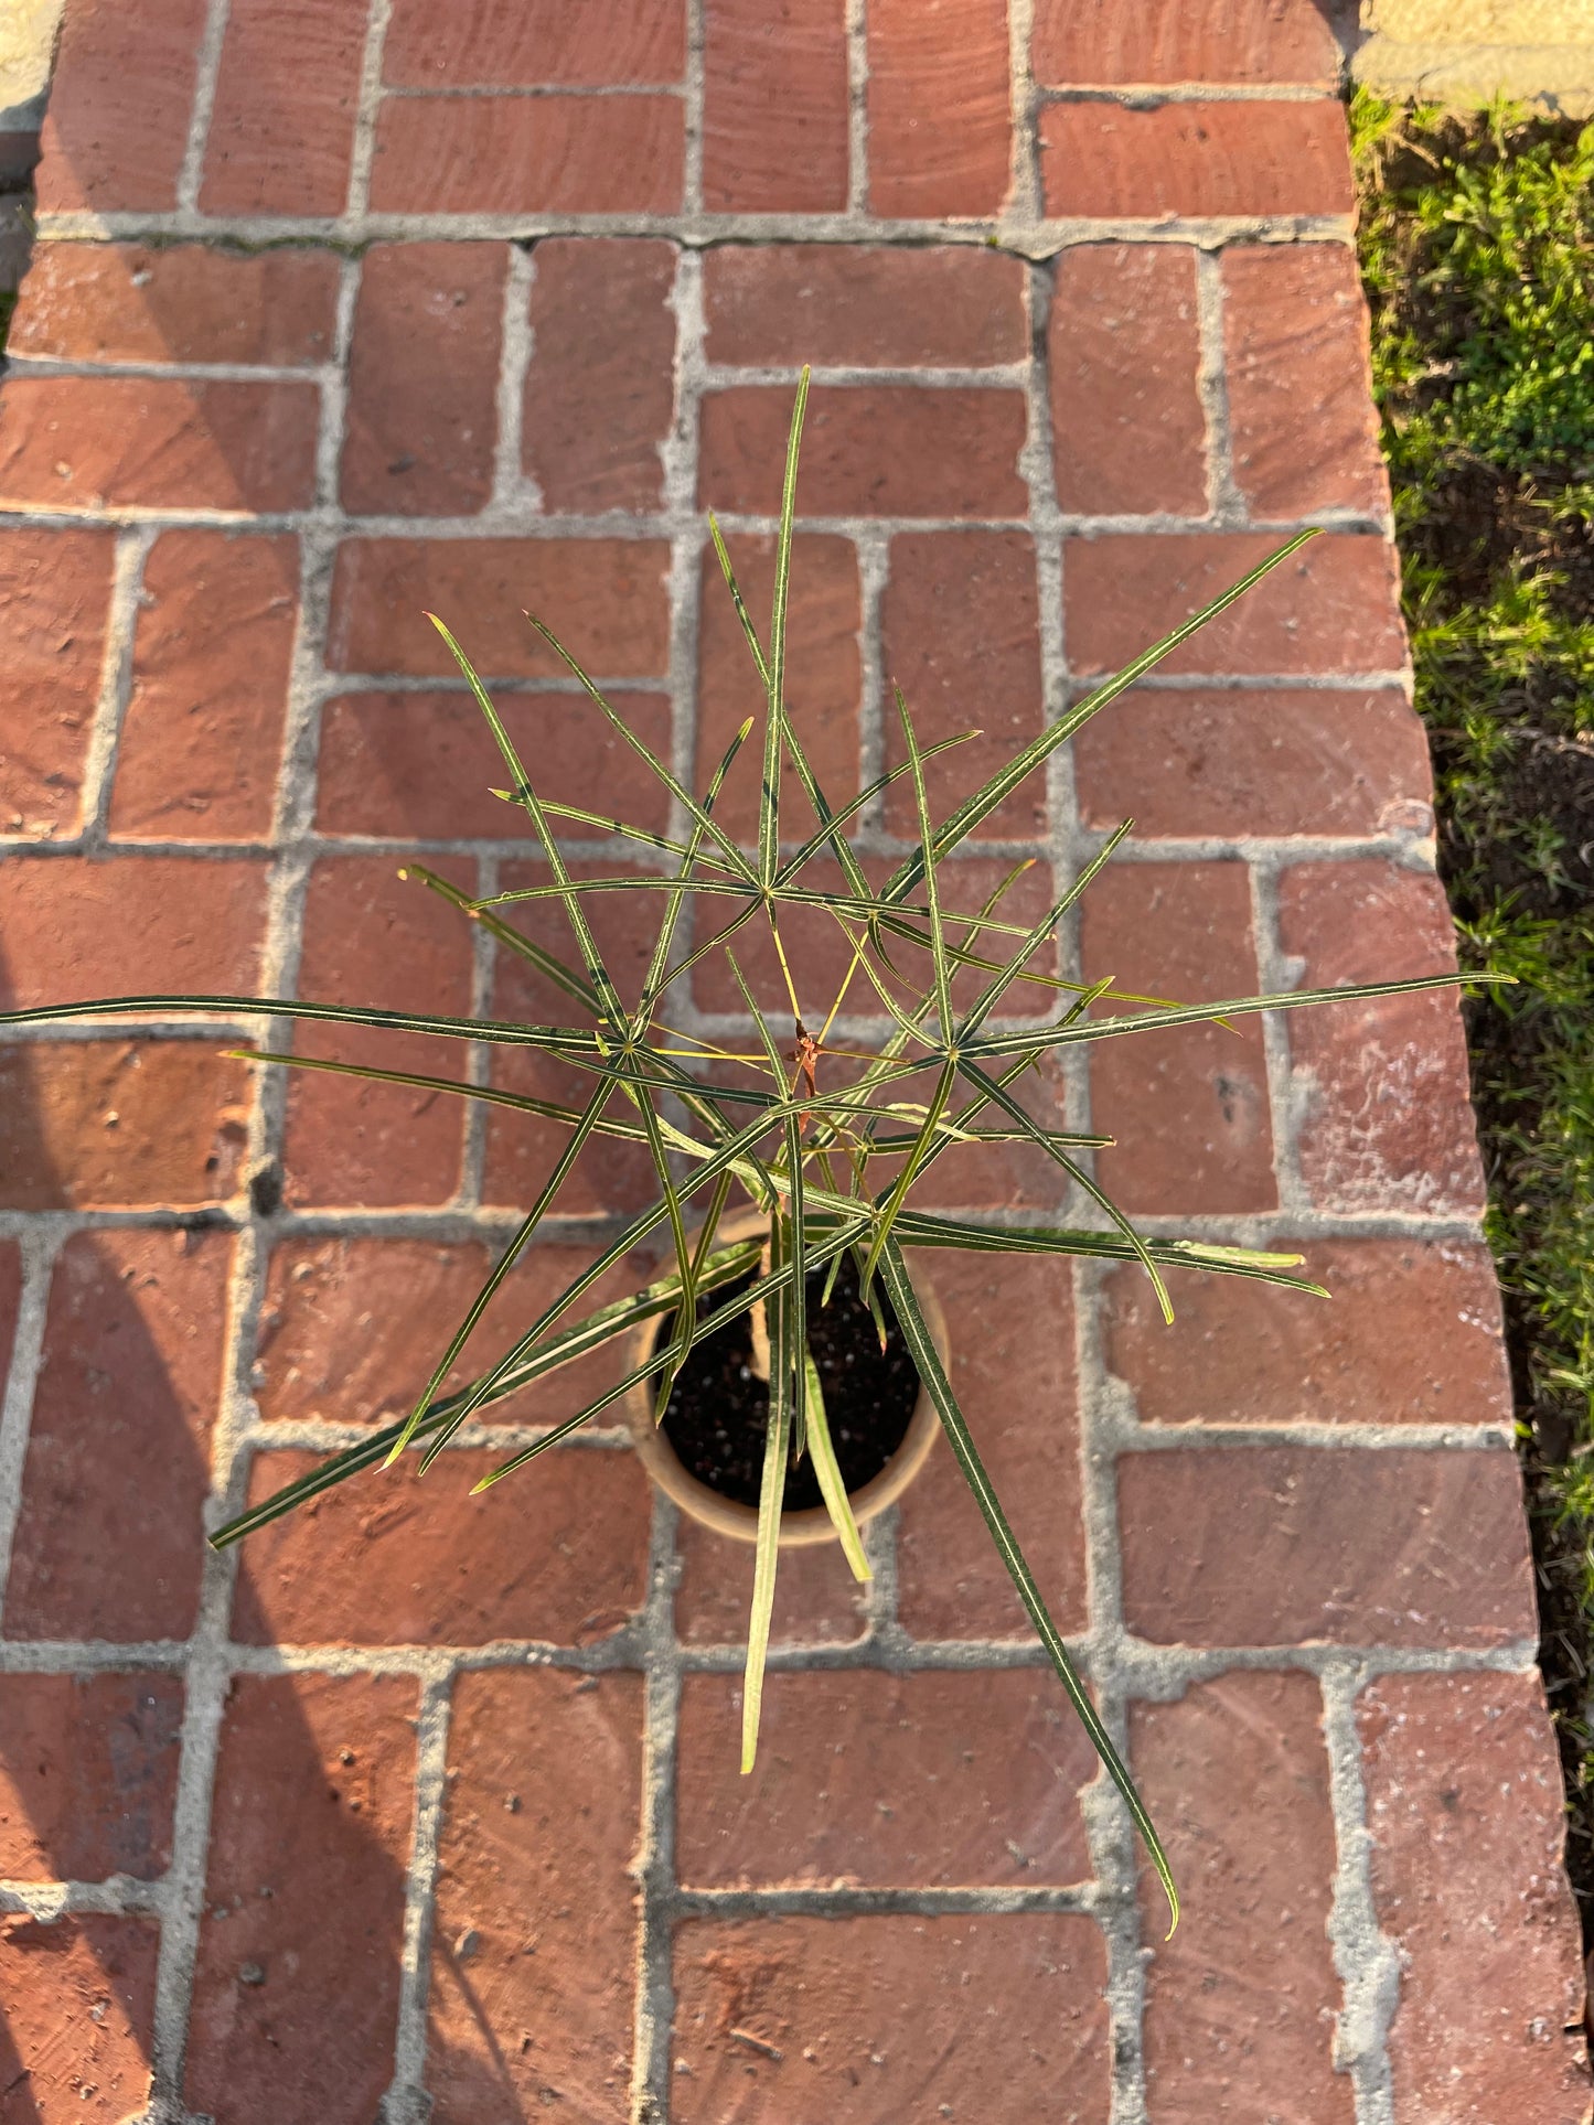
[[[491,901],[472,901],[448,880],[429,871],[412,867],[410,876],[442,892],[465,916],[485,922],[504,950],[523,956],[542,978],[553,982],[572,1005],[570,1024],[512,1024],[249,997],[125,997],[96,1005],[79,1003],[13,1014],[4,1022],[38,1022],[96,1012],[225,1009],[230,1014],[431,1033],[455,1041],[521,1046],[582,1073],[587,1099],[582,1105],[565,1107],[451,1077],[421,1077],[408,1071],[383,1071],[312,1056],[249,1052],[253,1060],[427,1086],[461,1099],[493,1101],[559,1122],[567,1135],[546,1184],[459,1330],[440,1354],[410,1415],[402,1424],[387,1426],[359,1445],[332,1456],[287,1490],[230,1522],[213,1541],[217,1545],[234,1543],[334,1483],[361,1470],[387,1466],[406,1451],[419,1451],[425,1470],[480,1407],[497,1402],[616,1339],[631,1339],[648,1322],[659,1324],[663,1341],[642,1364],[629,1366],[604,1394],[553,1426],[525,1451],[506,1460],[482,1479],[478,1488],[485,1490],[638,1388],[650,1394],[657,1411],[663,1413],[669,1381],[686,1354],[735,1315],[752,1311],[754,1345],[769,1354],[769,1424],[748,1624],[744,1770],[752,1766],[759,1732],[782,1492],[793,1458],[801,1454],[812,1458],[844,1553],[859,1579],[869,1572],[835,1464],[818,1373],[808,1356],[806,1324],[810,1277],[825,1279],[820,1290],[827,1296],[842,1258],[850,1256],[857,1264],[859,1290],[876,1311],[876,1320],[884,1320],[880,1305],[884,1292],[901,1324],[948,1445],[973,1490],[1001,1560],[1063,1687],[1146,1838],[1169,1906],[1177,1912],[1163,1847],[1063,1636],[1046,1611],[1001,1500],[986,1477],[980,1449],[959,1409],[916,1296],[910,1262],[916,1252],[939,1247],[1137,1260],[1152,1279],[1169,1320],[1171,1303],[1163,1277],[1167,1269],[1203,1269],[1316,1290],[1316,1286],[1303,1286],[1288,1275],[1299,1256],[1143,1239],[1097,1186],[1086,1162],[1092,1148],[1112,1139],[1058,1133],[1037,1120],[1024,1103],[1024,1080],[1048,1056],[1078,1041],[1126,1039],[1146,1028],[1226,1020],[1267,1007],[1294,1009],[1347,994],[1392,994],[1430,984],[1388,982],[1362,990],[1296,990],[1203,1005],[1165,1005],[1124,997],[1105,982],[1084,988],[1041,971],[1037,963],[1050,950],[1058,922],[1109,858],[1129,831],[1129,822],[1107,837],[1095,861],[1069,880],[1063,895],[1046,907],[1039,920],[1016,922],[1003,914],[1005,895],[1024,865],[1018,865],[978,910],[954,910],[946,897],[952,852],[1027,776],[1041,767],[1050,752],[1292,555],[1311,533],[1290,540],[1201,614],[1135,659],[1090,699],[1052,722],[973,790],[950,818],[939,822],[931,818],[925,761],[978,733],[963,733],[963,737],[946,740],[942,746],[922,748],[901,695],[897,695],[895,708],[905,750],[903,763],[835,805],[818,784],[784,699],[793,506],[806,393],[808,378],[803,376],[791,425],[774,610],[767,633],[759,631],[748,614],[718,525],[710,518],[725,582],[746,633],[750,680],[763,697],[763,714],[748,718],[737,731],[701,795],[693,795],[678,782],[669,767],[627,727],[621,712],[604,699],[576,659],[563,650],[553,629],[531,618],[531,627],[580,680],[593,714],[606,718],[614,737],[638,754],[669,793],[678,822],[676,833],[652,833],[625,820],[599,818],[540,793],[465,652],[446,625],[434,620],[504,754],[510,784],[499,795],[521,805],[531,820],[542,848],[546,882],[495,895]],[[754,848],[744,848],[718,824],[714,814],[731,763],[752,742],[759,722],[759,835]],[[782,788],[788,786],[788,778],[797,780],[818,822],[797,848],[782,842]],[[888,784],[901,780],[914,795],[918,846],[884,884],[871,884],[848,842],[848,829],[865,805],[878,799]],[[606,835],[616,835],[642,850],[648,861],[657,863],[657,869],[574,878],[561,852],[561,827],[599,829]],[[657,941],[640,994],[633,999],[621,994],[589,922],[589,903],[606,892],[642,892],[659,905]],[[525,937],[506,914],[506,903],[538,899],[557,901],[567,918],[570,952],[563,956]],[[831,997],[810,997],[806,969],[801,963],[793,965],[786,950],[799,912],[806,920],[818,916],[833,924],[844,941],[848,971]],[[786,999],[784,1012],[776,1016],[780,1035],[752,999],[744,965],[752,939],[767,939],[780,969]],[[672,1001],[680,994],[682,980],[706,960],[718,960],[729,969],[746,1001],[746,1022],[752,1031],[742,1048],[725,1048],[672,1026]],[[971,1003],[954,1001],[954,980],[959,994],[973,986]],[[1035,984],[1048,999],[1046,1016],[1003,1022],[999,1018],[1003,1001],[1016,990],[1029,990],[1033,997]],[[888,1026],[871,1048],[857,1048],[840,1039],[831,1043],[835,1022],[852,997],[863,997],[871,1020]],[[1114,1016],[1101,1016],[1099,1005],[1112,1007]],[[1124,1005],[1131,1009],[1122,1009]],[[793,1046],[786,1046],[786,1039]],[[657,1175],[657,1198],[640,1216],[633,1216],[610,1245],[593,1254],[589,1266],[489,1371],[472,1386],[442,1394],[442,1383],[474,1326],[544,1218],[555,1209],[572,1167],[595,1137],[623,1139],[642,1148]],[[948,1154],[973,1158],[982,1145],[1029,1145],[1061,1167],[1097,1205],[1101,1224],[1082,1228],[988,1226],[914,1207],[914,1190],[937,1160]],[[742,1243],[720,1239],[720,1220],[733,1192],[748,1196],[765,1213],[767,1243],[763,1239]],[[667,1266],[629,1298],[589,1311],[595,1286],[648,1241],[663,1245]]]

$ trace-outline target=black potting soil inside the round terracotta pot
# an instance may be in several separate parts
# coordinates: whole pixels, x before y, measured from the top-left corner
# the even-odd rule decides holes
[[[701,1298],[697,1318],[725,1305],[733,1290],[735,1286]],[[880,1349],[880,1334],[859,1298],[859,1273],[850,1258],[842,1262],[825,1309],[818,1303],[823,1290],[825,1273],[808,1279],[808,1347],[825,1392],[825,1417],[842,1481],[852,1492],[878,1477],[908,1436],[908,1422],[918,1400],[918,1373],[884,1292],[880,1300],[886,1347]],[[667,1343],[672,1334],[674,1313],[661,1322],[659,1343]],[[669,1390],[663,1428],[680,1464],[699,1483],[740,1504],[759,1502],[763,1443],[769,1430],[769,1383],[752,1371],[748,1313],[737,1313],[691,1352]],[[803,1454],[786,1470],[786,1511],[801,1513],[820,1502],[812,1456]]]

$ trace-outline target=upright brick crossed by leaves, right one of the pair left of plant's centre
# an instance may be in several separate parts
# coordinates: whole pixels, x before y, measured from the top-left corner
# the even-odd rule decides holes
[[[574,865],[574,876],[625,876],[625,865]],[[544,865],[506,863],[499,871],[504,892],[546,886]],[[663,895],[604,892],[587,899],[587,920],[597,950],[604,954],[614,986],[627,1009],[633,1009],[659,935]],[[580,965],[570,920],[557,901],[516,901],[499,914],[533,944],[555,952],[567,967]],[[525,958],[499,946],[493,975],[493,1016],[519,1024],[589,1024],[580,1005],[540,975]],[[557,1056],[531,1048],[499,1046],[493,1050],[493,1084],[523,1099],[550,1099],[582,1109],[593,1094],[593,1077]],[[635,1120],[635,1109],[623,1099],[610,1103],[616,1116]],[[570,1130],[561,1122],[544,1122],[529,1114],[495,1107],[487,1120],[489,1203],[531,1203],[565,1148]],[[612,1218],[616,1211],[644,1209],[659,1194],[659,1182],[648,1152],[640,1143],[612,1137],[589,1137],[576,1169],[559,1192],[557,1209],[567,1218]]]

